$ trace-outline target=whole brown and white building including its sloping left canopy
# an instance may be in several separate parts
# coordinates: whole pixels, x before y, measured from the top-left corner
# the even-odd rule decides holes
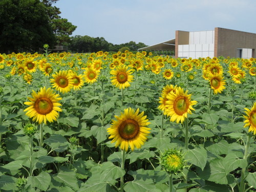
[[[138,49],[174,51],[175,57],[255,57],[256,34],[216,27],[207,31],[176,31],[175,39]]]

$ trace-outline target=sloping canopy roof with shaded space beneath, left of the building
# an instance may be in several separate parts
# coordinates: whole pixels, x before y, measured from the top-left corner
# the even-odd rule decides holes
[[[161,50],[161,51],[174,51],[175,50],[175,38],[166,40],[164,42],[159,42],[159,44],[155,44],[152,46],[147,46],[138,49],[138,51],[143,50]]]

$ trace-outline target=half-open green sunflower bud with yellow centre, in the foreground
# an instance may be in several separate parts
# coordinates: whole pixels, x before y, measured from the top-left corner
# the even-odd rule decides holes
[[[160,156],[160,164],[167,173],[174,174],[183,170],[185,161],[181,151],[174,149],[167,150]]]

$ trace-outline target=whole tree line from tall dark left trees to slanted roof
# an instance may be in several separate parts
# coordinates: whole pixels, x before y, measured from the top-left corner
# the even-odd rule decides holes
[[[0,53],[38,52],[44,44],[68,46],[72,52],[137,51],[145,47],[134,41],[113,45],[103,37],[70,37],[76,26],[61,18],[58,0],[1,0],[0,1]]]

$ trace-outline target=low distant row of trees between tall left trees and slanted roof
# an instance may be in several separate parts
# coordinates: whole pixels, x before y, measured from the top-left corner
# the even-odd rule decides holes
[[[119,50],[129,50],[137,51],[139,48],[146,47],[145,44],[139,42],[136,44],[134,41],[126,42],[125,44],[114,45],[106,41],[103,37],[90,37],[88,35],[80,36],[76,35],[71,37],[70,44],[68,46],[69,50],[77,53],[86,52],[97,52],[97,51],[119,51]]]

